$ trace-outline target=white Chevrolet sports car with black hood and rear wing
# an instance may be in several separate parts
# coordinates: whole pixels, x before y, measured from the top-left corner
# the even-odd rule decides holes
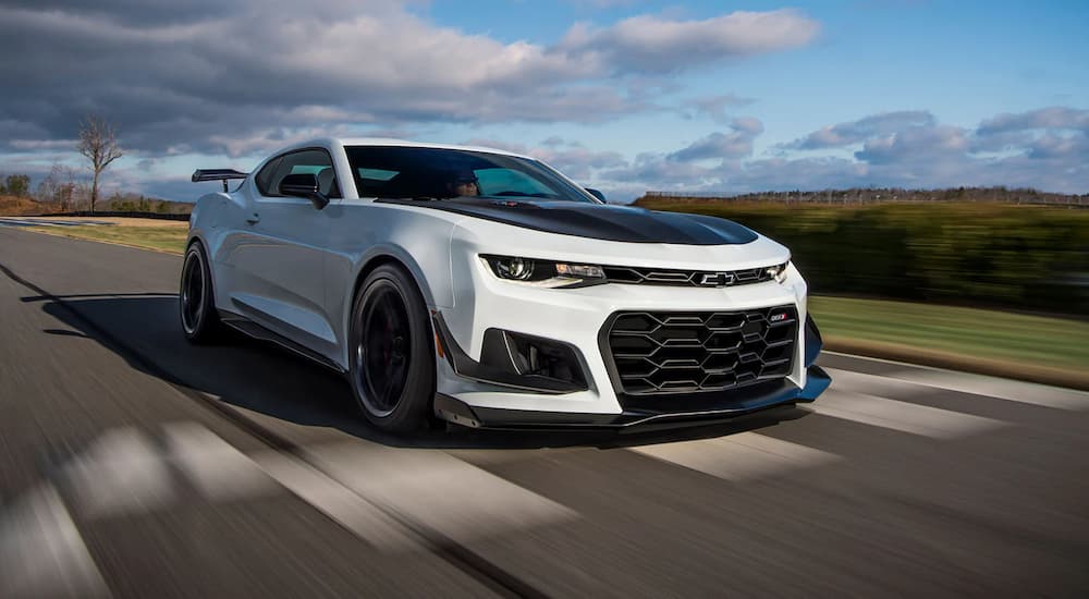
[[[230,326],[310,357],[384,429],[706,421],[830,382],[790,252],[729,220],[608,205],[502,150],[390,139],[193,180],[223,192],[189,221],[186,338]]]

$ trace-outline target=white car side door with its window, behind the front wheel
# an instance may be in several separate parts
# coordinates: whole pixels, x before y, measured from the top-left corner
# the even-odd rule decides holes
[[[335,347],[326,310],[325,254],[329,212],[306,198],[284,196],[289,174],[311,173],[322,192],[339,198],[329,152],[296,150],[277,159],[250,187],[244,223],[234,248],[234,309],[265,328],[321,354]]]

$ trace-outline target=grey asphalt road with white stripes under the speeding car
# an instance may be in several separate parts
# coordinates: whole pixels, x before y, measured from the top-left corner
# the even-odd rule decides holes
[[[180,266],[0,229],[0,597],[1089,594],[1089,394],[824,355],[730,425],[394,439],[186,344]]]

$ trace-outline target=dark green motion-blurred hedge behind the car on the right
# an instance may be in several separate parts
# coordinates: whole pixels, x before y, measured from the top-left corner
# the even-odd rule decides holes
[[[999,203],[671,201],[791,248],[817,294],[1089,316],[1089,210]]]

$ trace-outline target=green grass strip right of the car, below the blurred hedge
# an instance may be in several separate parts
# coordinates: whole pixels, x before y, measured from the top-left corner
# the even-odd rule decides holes
[[[809,309],[829,338],[1089,370],[1089,322],[846,297],[810,297]]]

